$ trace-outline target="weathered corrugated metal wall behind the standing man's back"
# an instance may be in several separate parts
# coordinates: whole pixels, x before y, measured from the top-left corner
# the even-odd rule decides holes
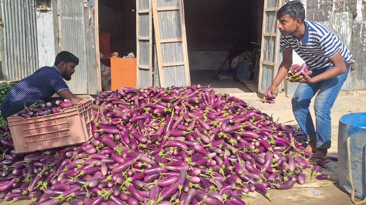
[[[351,70],[344,83],[342,90],[365,90],[366,72],[363,65],[366,63],[364,40],[366,37],[365,20],[362,23],[355,23],[352,18],[351,8],[356,7],[356,1],[333,0],[333,1],[307,1],[307,19],[325,24],[332,28],[351,50],[356,69]],[[365,16],[365,4],[362,4],[362,11]],[[352,31],[352,27],[354,30]]]

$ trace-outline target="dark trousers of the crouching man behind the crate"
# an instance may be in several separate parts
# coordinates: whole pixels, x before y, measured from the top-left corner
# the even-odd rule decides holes
[[[1,111],[1,116],[3,116],[5,121],[8,121],[7,118],[22,111],[24,109],[24,105],[26,107],[29,107],[30,105],[34,104],[35,102],[37,102],[37,104],[41,104],[41,103],[45,104],[46,102],[51,102],[52,107],[55,107],[56,100],[64,100],[64,99],[62,97],[51,97],[51,98],[48,98],[45,101],[43,101],[43,100],[34,100],[34,99],[23,98],[23,99],[20,99],[20,100],[14,102],[10,106],[8,106],[8,109],[6,109],[5,111]]]

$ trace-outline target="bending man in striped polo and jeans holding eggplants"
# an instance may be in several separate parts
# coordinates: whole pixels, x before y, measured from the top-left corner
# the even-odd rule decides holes
[[[346,81],[352,54],[339,36],[329,27],[305,20],[305,9],[298,0],[291,1],[279,9],[278,28],[281,33],[280,47],[283,61],[272,85],[266,92],[275,94],[281,81],[287,76],[292,65],[292,51],[295,51],[313,71],[310,76],[305,72],[292,98],[292,111],[306,135],[309,145],[306,151],[312,154],[308,159],[328,162],[327,150],[330,148],[332,108],[341,87]],[[311,99],[315,96],[315,124],[309,112]]]

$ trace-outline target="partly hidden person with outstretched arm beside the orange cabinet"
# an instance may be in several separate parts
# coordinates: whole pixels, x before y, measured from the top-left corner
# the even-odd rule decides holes
[[[111,58],[118,58],[117,52],[103,55],[100,54],[100,76],[102,80],[102,91],[111,90]]]

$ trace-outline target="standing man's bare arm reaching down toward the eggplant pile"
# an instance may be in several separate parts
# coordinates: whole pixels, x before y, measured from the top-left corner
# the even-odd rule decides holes
[[[283,51],[282,54],[282,62],[280,64],[280,68],[278,70],[278,73],[275,77],[275,80],[273,80],[272,85],[268,88],[267,92],[271,92],[274,96],[276,96],[276,90],[278,86],[281,84],[283,79],[286,77],[288,70],[290,69],[292,65],[292,49],[288,51]],[[265,96],[264,96],[265,98]]]

